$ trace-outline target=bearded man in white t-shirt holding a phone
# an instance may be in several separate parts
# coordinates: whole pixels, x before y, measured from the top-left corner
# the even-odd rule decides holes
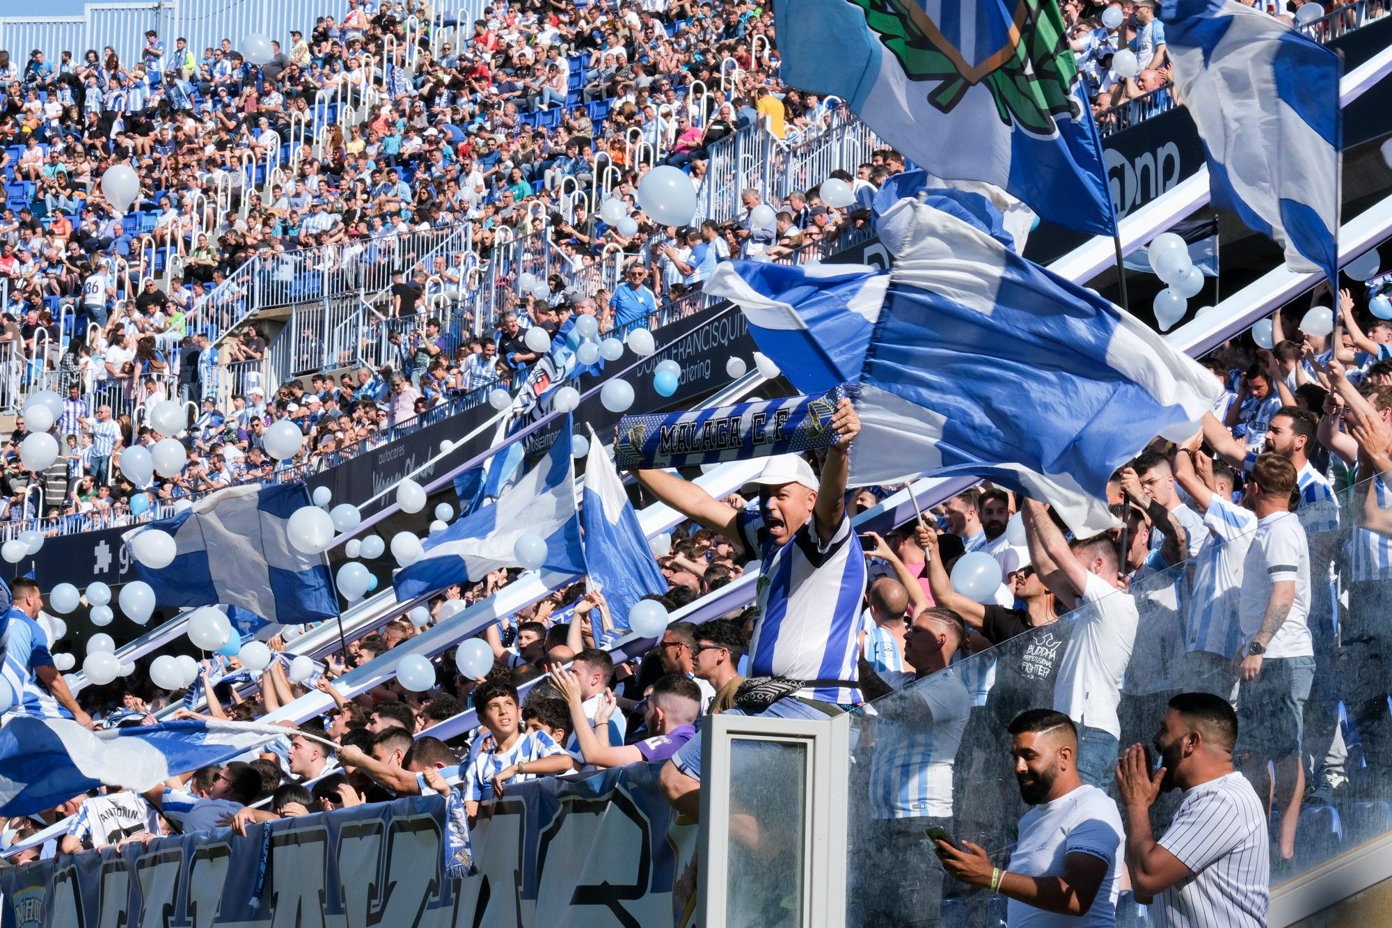
[[[954,879],[1009,899],[1006,922],[1094,927],[1116,924],[1122,819],[1116,804],[1077,778],[1077,729],[1052,709],[1026,709],[1009,725],[1020,818],[1009,869],[972,842],[937,842]]]

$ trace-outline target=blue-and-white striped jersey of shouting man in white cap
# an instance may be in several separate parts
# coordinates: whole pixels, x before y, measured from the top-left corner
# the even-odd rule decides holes
[[[759,619],[749,642],[749,670],[756,677],[856,680],[864,552],[849,516],[825,545],[814,521],[809,518],[778,548],[757,514],[742,511],[736,518],[745,549],[757,550],[761,560]],[[800,695],[837,704],[860,701],[856,687],[806,688]]]

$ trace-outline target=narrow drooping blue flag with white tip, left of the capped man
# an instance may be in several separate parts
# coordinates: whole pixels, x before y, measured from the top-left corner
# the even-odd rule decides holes
[[[604,594],[617,627],[628,628],[628,613],[649,594],[667,592],[667,581],[624,492],[624,481],[604,443],[590,431],[585,460],[585,564],[590,587]],[[599,627],[593,627],[596,641]]]

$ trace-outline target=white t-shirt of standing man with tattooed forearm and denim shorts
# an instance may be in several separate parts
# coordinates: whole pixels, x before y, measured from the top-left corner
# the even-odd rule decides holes
[[[1310,614],[1310,543],[1295,513],[1272,513],[1258,520],[1242,562],[1237,619],[1247,641],[1261,628],[1271,585],[1282,580],[1295,581],[1296,598],[1286,620],[1267,644],[1267,658],[1313,656],[1314,647],[1306,626],[1306,616]]]

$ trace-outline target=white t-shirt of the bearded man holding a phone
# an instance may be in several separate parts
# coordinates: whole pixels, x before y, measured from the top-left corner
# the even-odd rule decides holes
[[[1076,633],[1075,633],[1076,634]],[[1011,854],[1011,872],[1025,876],[1058,876],[1069,854],[1091,854],[1107,861],[1107,876],[1097,888],[1087,914],[1062,915],[1011,900],[1011,928],[1089,928],[1116,924],[1116,871],[1122,858],[1122,817],[1107,793],[1079,786],[1052,803],[1036,805],[1020,818],[1020,837]]]

